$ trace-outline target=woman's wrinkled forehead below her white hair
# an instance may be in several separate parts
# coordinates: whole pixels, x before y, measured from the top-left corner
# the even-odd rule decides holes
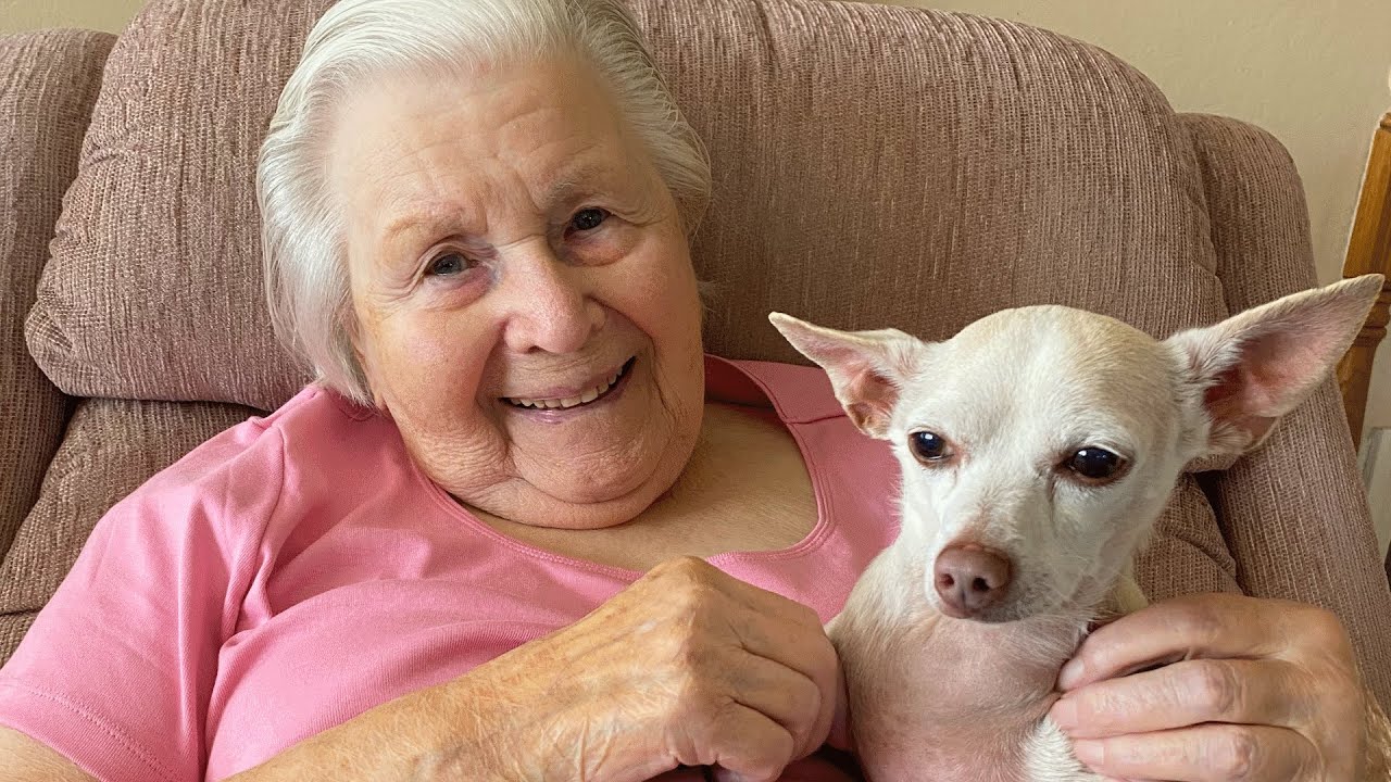
[[[355,206],[377,214],[384,234],[396,223],[456,212],[460,199],[524,192],[542,209],[651,179],[608,90],[573,67],[384,82],[344,114],[332,156],[337,184]]]

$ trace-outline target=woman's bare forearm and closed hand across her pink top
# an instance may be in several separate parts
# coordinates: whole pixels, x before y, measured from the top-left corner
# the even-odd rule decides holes
[[[234,779],[641,782],[712,765],[771,781],[826,740],[837,671],[810,608],[677,559],[569,628]]]

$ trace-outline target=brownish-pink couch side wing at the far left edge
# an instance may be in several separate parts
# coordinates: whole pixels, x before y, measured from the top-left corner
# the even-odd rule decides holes
[[[24,317],[115,36],[0,38],[0,554],[39,495],[67,404],[29,358]]]

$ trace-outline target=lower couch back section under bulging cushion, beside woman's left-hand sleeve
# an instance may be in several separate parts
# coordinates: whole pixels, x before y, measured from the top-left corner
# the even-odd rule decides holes
[[[85,399],[0,564],[0,664],[19,644],[111,505],[198,444],[246,417],[213,404]]]

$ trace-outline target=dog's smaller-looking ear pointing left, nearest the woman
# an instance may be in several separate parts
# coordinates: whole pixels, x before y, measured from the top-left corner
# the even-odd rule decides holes
[[[899,331],[836,331],[775,312],[768,320],[830,377],[846,415],[869,437],[889,437],[899,391],[922,342]]]

